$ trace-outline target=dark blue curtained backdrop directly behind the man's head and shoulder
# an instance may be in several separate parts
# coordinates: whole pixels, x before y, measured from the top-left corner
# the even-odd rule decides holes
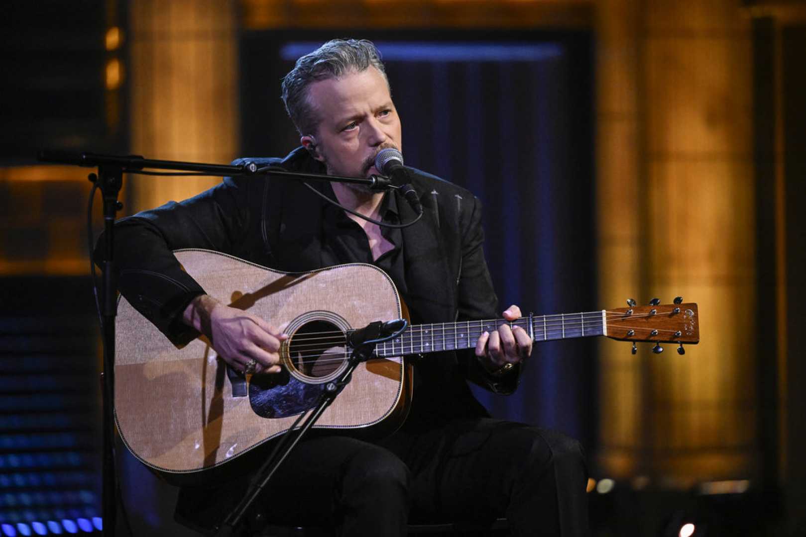
[[[401,116],[406,163],[482,201],[501,309],[604,308],[596,300],[588,37],[247,32],[240,48],[244,155],[285,155],[298,145],[279,98],[280,78],[297,57],[339,35],[367,36],[378,45]],[[538,344],[516,394],[476,394],[493,415],[557,428],[592,448],[595,349],[592,339]]]

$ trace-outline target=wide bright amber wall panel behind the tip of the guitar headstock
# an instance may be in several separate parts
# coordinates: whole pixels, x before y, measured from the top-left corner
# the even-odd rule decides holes
[[[702,336],[651,361],[647,447],[683,482],[755,461],[750,39],[732,0],[646,4],[647,279],[700,304]]]

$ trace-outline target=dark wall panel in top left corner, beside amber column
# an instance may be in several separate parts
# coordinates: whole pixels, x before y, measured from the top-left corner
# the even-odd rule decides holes
[[[107,18],[125,25],[125,10],[110,14],[107,4],[114,2],[3,2],[0,162],[33,163],[42,147],[126,150],[125,91],[105,86]],[[106,122],[107,105],[117,108],[114,124]]]

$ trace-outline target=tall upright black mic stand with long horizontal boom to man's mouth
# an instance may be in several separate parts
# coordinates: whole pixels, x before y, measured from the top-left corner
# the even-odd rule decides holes
[[[114,471],[114,318],[117,315],[117,282],[114,278],[114,220],[123,204],[118,201],[120,188],[123,186],[123,173],[143,172],[143,168],[180,170],[202,173],[210,176],[278,176],[296,180],[326,180],[336,183],[364,184],[369,188],[382,191],[391,188],[391,181],[383,176],[372,176],[368,179],[359,177],[326,176],[322,174],[297,173],[286,171],[280,167],[259,168],[255,163],[247,162],[239,166],[222,164],[189,163],[174,160],[144,159],[140,155],[100,155],[97,153],[69,151],[39,151],[37,158],[42,162],[74,164],[85,167],[98,167],[98,175],[90,174],[89,180],[98,184],[103,197],[104,219],[104,269],[102,286],[102,324],[103,324],[103,478],[102,478],[102,520],[103,535],[114,535],[117,518],[117,485]],[[143,172],[145,173],[145,172]],[[380,328],[379,328],[380,329]],[[373,347],[374,348],[374,347]],[[370,351],[372,352],[372,351]],[[355,353],[355,351],[354,351]],[[366,359],[366,358],[364,358]],[[355,361],[355,366],[358,365]],[[348,368],[351,372],[355,366]],[[348,375],[349,377],[349,375]],[[349,380],[349,379],[347,379]],[[336,386],[336,394],[343,386]],[[335,397],[335,395],[334,395]],[[332,399],[330,399],[332,401]],[[327,403],[330,404],[330,403]],[[325,405],[324,407],[326,407]],[[324,411],[322,407],[322,411]],[[319,412],[321,414],[321,411]],[[303,414],[304,415],[304,414]],[[302,415],[300,416],[302,417]],[[318,418],[318,416],[317,416]],[[314,419],[315,422],[315,419]],[[297,423],[294,423],[296,426]],[[310,426],[309,426],[310,427]],[[296,444],[296,442],[295,442]],[[293,448],[293,446],[291,446]],[[289,448],[290,451],[290,448]],[[281,462],[281,461],[280,461]],[[278,462],[279,465],[279,462]],[[271,477],[271,476],[269,476]],[[268,479],[266,480],[268,481]],[[251,502],[249,502],[251,504]],[[240,519],[240,517],[238,518]]]

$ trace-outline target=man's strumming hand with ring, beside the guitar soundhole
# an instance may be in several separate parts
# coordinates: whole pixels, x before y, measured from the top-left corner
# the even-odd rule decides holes
[[[227,364],[243,371],[256,361],[256,373],[280,373],[280,342],[289,336],[258,316],[230,308],[209,295],[197,296],[185,308],[185,324],[206,335]]]

